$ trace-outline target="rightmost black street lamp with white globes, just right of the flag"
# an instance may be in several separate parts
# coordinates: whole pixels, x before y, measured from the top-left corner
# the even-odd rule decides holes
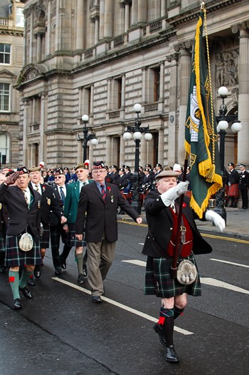
[[[233,133],[238,133],[242,125],[240,121],[237,119],[236,115],[226,115],[228,112],[228,108],[225,103],[225,99],[228,97],[228,89],[225,86],[221,86],[218,89],[218,96],[222,99],[222,103],[219,109],[219,114],[216,116],[216,123],[217,123],[217,133],[220,135],[220,161],[221,161],[221,175],[223,180],[223,187],[216,192],[216,211],[223,219],[226,221],[226,209],[224,207],[225,202],[225,183],[226,178],[228,177],[226,169],[225,169],[225,136],[226,130],[228,129],[229,123],[232,123],[231,130]]]

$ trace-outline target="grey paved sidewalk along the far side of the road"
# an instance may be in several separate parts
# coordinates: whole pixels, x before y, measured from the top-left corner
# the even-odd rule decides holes
[[[249,209],[242,210],[240,208],[226,207],[226,229],[222,232],[224,236],[233,236],[238,239],[249,240]],[[146,217],[142,208],[141,216],[143,223],[146,224]],[[118,215],[119,220],[133,221],[128,215]],[[201,232],[211,232],[213,235],[220,234],[217,232],[216,227],[211,222],[203,222],[196,220],[198,230]]]

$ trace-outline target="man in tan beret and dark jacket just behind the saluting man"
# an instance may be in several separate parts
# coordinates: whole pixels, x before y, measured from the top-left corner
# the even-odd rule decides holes
[[[50,220],[50,213],[53,212],[55,217],[60,220],[61,223],[66,222],[66,218],[63,215],[62,207],[59,205],[58,200],[55,199],[55,193],[53,189],[48,184],[41,183],[41,166],[32,166],[28,168],[29,172],[29,179],[30,179],[30,186],[33,187],[33,190],[38,191],[41,194],[41,224],[43,225],[43,234],[40,241],[40,251],[41,251],[41,258],[45,257],[46,249],[49,247],[49,220]],[[41,267],[37,265],[34,269],[33,274],[36,278],[41,276]],[[29,285],[34,284],[32,283],[33,279],[31,278]]]

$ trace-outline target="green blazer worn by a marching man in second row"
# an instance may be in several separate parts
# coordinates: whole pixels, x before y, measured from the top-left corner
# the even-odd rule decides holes
[[[92,180],[88,180],[92,183]],[[68,219],[68,224],[73,224],[76,221],[78,204],[80,200],[80,183],[69,183],[66,185],[67,193],[64,202],[64,216]]]

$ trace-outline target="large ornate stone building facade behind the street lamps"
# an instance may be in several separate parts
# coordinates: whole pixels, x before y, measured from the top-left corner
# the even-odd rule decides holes
[[[83,159],[83,114],[98,145],[88,158],[134,166],[127,125],[141,103],[139,164],[184,160],[184,123],[191,51],[200,10],[197,0],[23,0],[24,66],[20,163],[47,167]],[[228,130],[225,163],[249,163],[249,2],[206,0],[213,99],[227,86],[228,114],[243,129]]]

